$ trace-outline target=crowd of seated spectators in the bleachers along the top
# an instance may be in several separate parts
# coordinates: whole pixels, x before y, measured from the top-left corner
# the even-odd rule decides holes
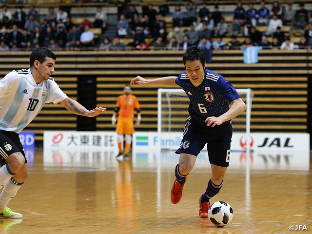
[[[178,2],[177,2],[178,3]],[[254,3],[244,9],[237,2],[232,15],[224,15],[215,5],[210,12],[205,1],[189,1],[186,11],[181,5],[169,8],[152,4],[142,7],[127,4],[118,11],[116,37],[105,37],[99,46],[95,45],[93,28],[100,28],[105,36],[108,17],[101,7],[95,20],[85,19],[75,24],[70,11],[62,7],[50,7],[45,19],[39,23],[39,14],[31,6],[28,14],[22,7],[13,13],[3,6],[0,12],[0,51],[31,51],[39,46],[58,50],[185,50],[198,45],[209,53],[212,50],[244,49],[249,46],[263,46],[264,49],[296,49],[312,45],[312,18],[299,4],[299,10],[292,9],[292,3],[280,5],[274,1],[271,9],[261,1],[258,10]],[[286,10],[285,10],[286,9]],[[260,30],[265,29],[265,30]],[[300,38],[294,43],[292,38]],[[207,52],[208,53],[208,52]]]

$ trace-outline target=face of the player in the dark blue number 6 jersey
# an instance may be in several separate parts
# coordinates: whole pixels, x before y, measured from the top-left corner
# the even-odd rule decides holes
[[[203,78],[204,78],[204,68],[206,63],[204,63],[204,67],[199,60],[186,60],[185,62],[185,70],[187,76],[190,78],[191,82],[198,86]]]

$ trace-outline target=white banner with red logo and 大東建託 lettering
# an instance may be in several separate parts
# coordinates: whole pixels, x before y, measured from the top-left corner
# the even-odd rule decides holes
[[[118,149],[116,132],[44,131],[44,148]]]

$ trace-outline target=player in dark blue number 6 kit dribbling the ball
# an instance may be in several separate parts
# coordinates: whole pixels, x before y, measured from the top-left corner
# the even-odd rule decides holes
[[[176,180],[171,190],[171,202],[176,204],[182,197],[183,186],[192,171],[196,156],[207,143],[212,176],[206,191],[199,197],[199,216],[208,217],[209,199],[219,193],[223,177],[230,162],[232,138],[231,119],[244,112],[246,105],[232,84],[221,75],[206,67],[203,51],[197,46],[186,49],[183,55],[185,72],[178,77],[144,79],[137,76],[132,85],[160,84],[180,86],[190,99],[189,114],[176,165]],[[229,103],[232,103],[229,108]]]

